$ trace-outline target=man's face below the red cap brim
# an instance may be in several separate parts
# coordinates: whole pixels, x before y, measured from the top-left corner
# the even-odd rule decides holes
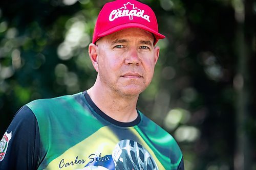
[[[103,88],[122,95],[139,95],[150,84],[159,47],[154,36],[131,28],[110,34],[96,42],[98,76]]]

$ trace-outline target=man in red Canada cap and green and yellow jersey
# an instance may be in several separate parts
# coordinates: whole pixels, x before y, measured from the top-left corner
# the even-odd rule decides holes
[[[89,45],[95,84],[22,107],[1,140],[0,168],[184,169],[174,138],[136,109],[162,38],[150,7],[105,4]]]

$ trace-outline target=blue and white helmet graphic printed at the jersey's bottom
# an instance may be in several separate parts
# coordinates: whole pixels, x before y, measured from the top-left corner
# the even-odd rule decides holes
[[[141,144],[129,139],[119,141],[112,155],[95,157],[94,160],[100,161],[91,161],[82,170],[158,170],[151,154]]]

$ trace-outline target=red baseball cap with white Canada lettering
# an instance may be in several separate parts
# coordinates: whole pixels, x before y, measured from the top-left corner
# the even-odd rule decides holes
[[[135,0],[117,0],[106,3],[99,12],[92,43],[127,28],[140,28],[153,33],[154,45],[159,39],[165,38],[158,33],[156,15],[149,6]]]

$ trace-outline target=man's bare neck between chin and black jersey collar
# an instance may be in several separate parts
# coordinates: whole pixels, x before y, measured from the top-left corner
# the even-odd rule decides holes
[[[119,122],[132,122],[138,116],[136,104],[139,96],[125,96],[94,85],[87,90],[95,105],[106,115]]]

